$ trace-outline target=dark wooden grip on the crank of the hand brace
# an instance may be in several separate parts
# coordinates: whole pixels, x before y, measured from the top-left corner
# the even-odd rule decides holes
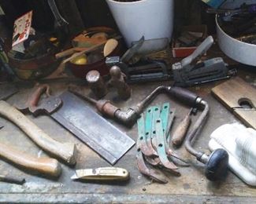
[[[183,89],[180,87],[171,87],[169,89],[169,93],[175,97],[177,100],[183,101],[185,104],[188,104],[191,107],[194,107],[196,104],[196,100],[198,99],[198,95],[192,93],[187,89]]]

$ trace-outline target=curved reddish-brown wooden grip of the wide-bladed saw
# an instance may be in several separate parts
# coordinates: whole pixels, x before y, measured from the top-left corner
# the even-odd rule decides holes
[[[28,100],[28,107],[35,109],[39,104],[40,97],[46,93],[48,97],[50,97],[50,86],[47,84],[39,85],[35,91],[32,93],[31,98]]]

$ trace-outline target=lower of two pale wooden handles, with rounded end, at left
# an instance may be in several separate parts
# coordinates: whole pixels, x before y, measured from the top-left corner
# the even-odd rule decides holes
[[[5,144],[0,144],[0,156],[21,167],[52,177],[58,177],[61,174],[61,165],[54,158],[35,158]]]

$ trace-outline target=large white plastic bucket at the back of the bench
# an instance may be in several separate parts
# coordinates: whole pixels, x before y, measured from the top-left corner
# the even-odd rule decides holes
[[[127,46],[145,39],[172,38],[173,0],[116,2],[106,0]]]

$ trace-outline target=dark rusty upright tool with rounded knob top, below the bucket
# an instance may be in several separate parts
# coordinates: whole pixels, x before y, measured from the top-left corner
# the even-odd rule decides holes
[[[124,75],[123,72],[121,72],[120,67],[113,66],[109,70],[109,74],[111,76],[108,84],[109,86],[113,86],[117,89],[117,93],[119,97],[123,100],[127,100],[129,97],[131,97],[132,89],[128,84],[124,81],[124,78],[126,78],[126,75]]]

